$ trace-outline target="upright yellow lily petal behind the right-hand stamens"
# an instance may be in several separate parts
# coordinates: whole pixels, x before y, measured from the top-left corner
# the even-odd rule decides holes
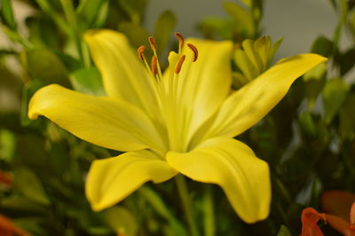
[[[190,137],[216,112],[230,90],[233,43],[199,39],[187,39],[186,43],[192,43],[198,50],[198,59],[192,62],[193,52],[185,45],[182,54],[186,59],[178,78],[180,101],[186,109],[180,114],[189,119],[187,133]]]

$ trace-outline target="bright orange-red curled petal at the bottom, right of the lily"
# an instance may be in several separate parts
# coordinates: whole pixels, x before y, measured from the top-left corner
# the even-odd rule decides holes
[[[326,215],[319,213],[314,208],[304,208],[301,216],[302,233],[300,236],[323,236],[324,234],[317,224],[319,220],[327,222]]]

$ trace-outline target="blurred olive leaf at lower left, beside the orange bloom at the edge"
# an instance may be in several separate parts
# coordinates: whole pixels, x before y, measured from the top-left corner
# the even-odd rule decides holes
[[[29,200],[36,201],[45,206],[51,203],[44,192],[41,181],[32,170],[27,168],[16,169],[14,177],[16,189]]]

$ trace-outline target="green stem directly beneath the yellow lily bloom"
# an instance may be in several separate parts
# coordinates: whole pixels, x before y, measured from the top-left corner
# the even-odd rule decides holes
[[[187,193],[185,177],[183,177],[182,175],[177,175],[175,177],[175,183],[177,185],[177,192],[180,196],[180,199],[183,204],[183,208],[185,210],[187,224],[190,227],[190,234],[192,236],[199,236],[199,232],[197,231],[197,226],[195,224],[194,217],[193,217],[193,202],[191,201]]]

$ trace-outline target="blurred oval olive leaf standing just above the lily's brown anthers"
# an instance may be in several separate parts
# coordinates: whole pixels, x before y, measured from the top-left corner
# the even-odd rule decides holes
[[[171,11],[162,12],[156,21],[154,36],[158,50],[160,50],[160,52],[164,51],[165,47],[167,46],[171,31],[175,28],[176,24],[176,17]]]

